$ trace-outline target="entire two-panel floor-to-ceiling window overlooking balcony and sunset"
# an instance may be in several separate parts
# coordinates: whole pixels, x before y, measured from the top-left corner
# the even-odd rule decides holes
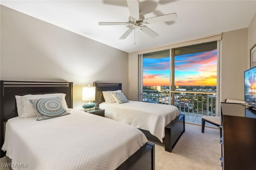
[[[216,115],[218,41],[142,55],[142,101],[172,104],[186,121]],[[174,56],[174,57],[172,57]]]

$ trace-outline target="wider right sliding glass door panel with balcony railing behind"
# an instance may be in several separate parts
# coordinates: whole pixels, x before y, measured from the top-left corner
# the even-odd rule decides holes
[[[174,49],[174,106],[185,114],[216,115],[217,61],[217,41]]]

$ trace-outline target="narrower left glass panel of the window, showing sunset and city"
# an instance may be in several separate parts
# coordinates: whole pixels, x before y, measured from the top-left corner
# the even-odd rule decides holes
[[[159,103],[170,94],[170,61],[170,50],[143,55],[144,102]]]

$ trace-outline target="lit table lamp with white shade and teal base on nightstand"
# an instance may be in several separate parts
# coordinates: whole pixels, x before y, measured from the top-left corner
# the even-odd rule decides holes
[[[89,111],[95,109],[96,104],[93,103],[95,100],[95,87],[84,86],[82,90],[82,101],[88,101],[88,103],[83,105],[84,111]],[[91,102],[92,101],[92,102]]]

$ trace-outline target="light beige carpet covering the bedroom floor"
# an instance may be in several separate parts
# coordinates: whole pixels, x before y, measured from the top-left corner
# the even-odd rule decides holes
[[[172,153],[164,150],[164,144],[155,143],[156,170],[221,170],[220,131],[186,123],[186,132]],[[6,163],[6,158],[1,158]],[[9,170],[1,167],[1,170]]]

